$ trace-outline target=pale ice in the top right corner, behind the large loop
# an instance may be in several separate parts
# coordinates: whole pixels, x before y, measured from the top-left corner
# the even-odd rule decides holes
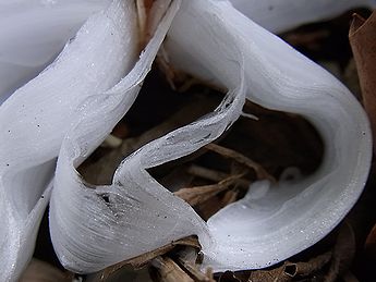
[[[244,15],[272,33],[327,20],[353,8],[376,8],[375,0],[230,0],[230,2]]]

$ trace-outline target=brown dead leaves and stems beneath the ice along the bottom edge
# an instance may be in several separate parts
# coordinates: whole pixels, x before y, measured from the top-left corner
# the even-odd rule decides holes
[[[252,271],[227,271],[214,275],[208,269],[199,271],[199,244],[196,237],[187,237],[171,243],[154,252],[107,268],[97,274],[95,282],[111,281],[110,278],[126,266],[141,268],[147,266],[151,280],[158,282],[288,282],[357,281],[349,271],[355,254],[355,236],[352,226],[343,223],[338,230],[336,244],[331,249],[304,261],[287,260],[276,267]],[[126,278],[123,278],[126,279]]]

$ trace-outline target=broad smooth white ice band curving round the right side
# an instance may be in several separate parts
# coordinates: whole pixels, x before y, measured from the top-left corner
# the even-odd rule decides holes
[[[313,176],[271,186],[208,220],[215,245],[203,244],[204,267],[215,271],[266,267],[316,243],[356,201],[372,156],[368,121],[351,93],[229,2],[184,1],[166,50],[175,69],[226,85],[223,75],[236,75],[233,46],[244,56],[247,98],[305,117],[320,133],[325,156]]]

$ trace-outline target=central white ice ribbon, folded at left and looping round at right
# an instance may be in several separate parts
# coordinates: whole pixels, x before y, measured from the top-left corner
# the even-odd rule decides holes
[[[229,89],[223,102],[211,114],[129,156],[111,185],[93,186],[80,177],[74,168],[105,138],[110,130],[105,125],[113,126],[129,108],[126,91],[133,93],[142,81],[133,83],[133,73],[145,73],[138,65],[151,63],[150,45],[161,42],[156,38],[167,25],[165,17],[144,57],[124,78],[131,86],[121,82],[106,98],[90,102],[64,139],[50,213],[52,242],[62,263],[76,272],[92,272],[197,234],[203,267],[240,270],[276,263],[320,240],[363,189],[371,161],[367,119],[336,78],[227,1],[182,1],[165,46],[175,69]],[[310,179],[281,182],[278,188],[271,185],[205,223],[146,169],[216,139],[241,114],[245,94],[266,108],[308,119],[323,135],[325,161]]]

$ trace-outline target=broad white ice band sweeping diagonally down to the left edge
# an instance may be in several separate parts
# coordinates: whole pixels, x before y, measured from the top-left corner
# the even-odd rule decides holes
[[[113,1],[0,107],[0,281],[16,280],[34,249],[63,136],[89,96],[116,85],[137,60],[135,8]],[[4,259],[7,258],[7,259]]]

